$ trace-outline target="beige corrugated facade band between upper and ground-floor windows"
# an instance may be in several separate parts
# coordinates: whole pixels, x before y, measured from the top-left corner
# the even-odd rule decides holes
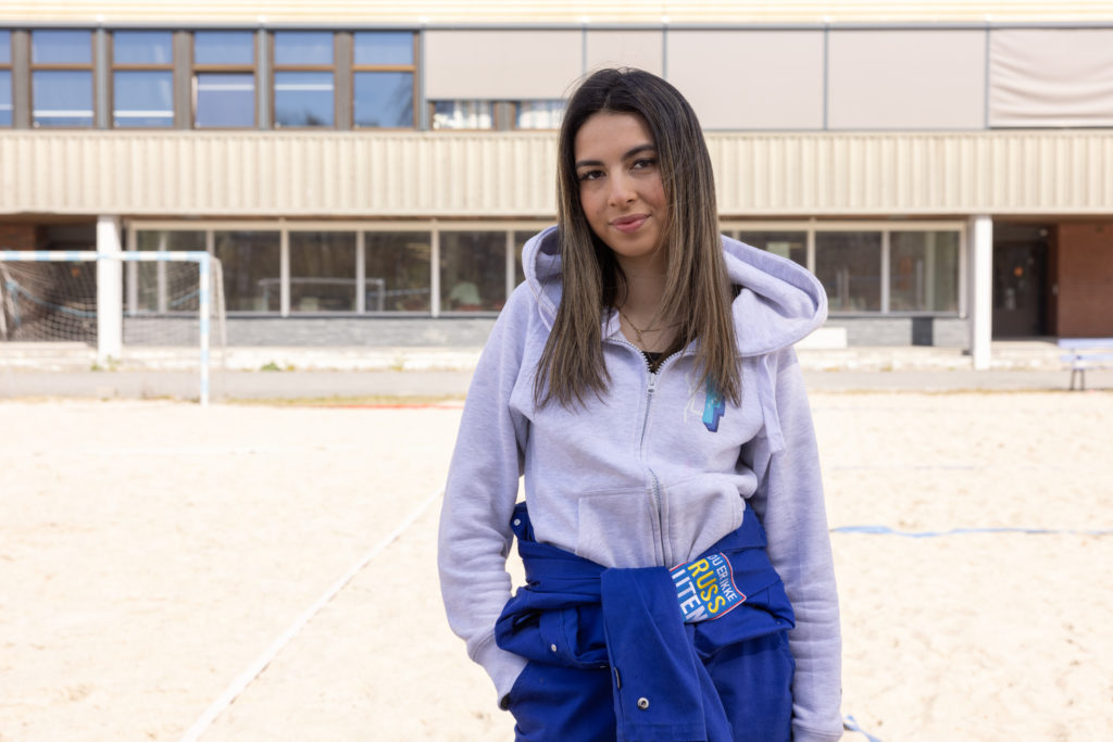
[[[723,216],[1113,212],[1113,131],[712,132]],[[548,217],[536,132],[0,133],[0,214]]]

